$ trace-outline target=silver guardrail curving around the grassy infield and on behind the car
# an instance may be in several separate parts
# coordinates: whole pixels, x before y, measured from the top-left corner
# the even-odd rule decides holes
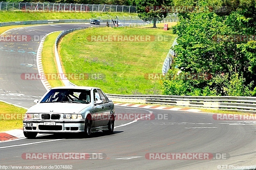
[[[73,28],[60,33],[55,41],[55,57],[59,73],[63,73],[57,45],[64,35],[75,30],[85,29]],[[63,80],[66,86],[76,86],[69,80]],[[106,94],[112,101],[130,103],[163,104],[185,107],[204,107],[220,110],[232,110],[243,112],[256,112],[256,97],[236,96],[171,96],[171,95],[123,95]]]

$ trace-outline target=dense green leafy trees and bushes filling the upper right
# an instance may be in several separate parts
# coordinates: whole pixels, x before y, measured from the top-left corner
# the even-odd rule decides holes
[[[255,1],[176,0],[174,4],[229,7],[179,14],[180,22],[173,28],[178,35],[173,63],[177,69],[163,78],[163,94],[255,96]]]

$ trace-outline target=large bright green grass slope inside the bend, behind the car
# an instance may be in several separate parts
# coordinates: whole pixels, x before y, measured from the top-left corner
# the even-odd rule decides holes
[[[166,35],[170,41],[93,42],[91,35]],[[101,73],[105,79],[70,80],[76,85],[97,86],[106,93],[160,94],[161,82],[144,78],[161,73],[175,39],[171,31],[152,28],[91,28],[66,35],[59,44],[66,73]]]

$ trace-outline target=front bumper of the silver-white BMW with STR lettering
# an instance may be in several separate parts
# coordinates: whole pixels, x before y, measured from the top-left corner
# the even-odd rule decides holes
[[[44,122],[55,122],[55,125],[44,125]],[[23,121],[24,132],[56,133],[56,132],[83,132],[85,120],[76,121]]]

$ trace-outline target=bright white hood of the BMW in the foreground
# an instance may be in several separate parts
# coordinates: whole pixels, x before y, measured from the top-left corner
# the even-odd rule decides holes
[[[30,107],[27,113],[79,113],[90,104],[85,103],[37,103]]]

